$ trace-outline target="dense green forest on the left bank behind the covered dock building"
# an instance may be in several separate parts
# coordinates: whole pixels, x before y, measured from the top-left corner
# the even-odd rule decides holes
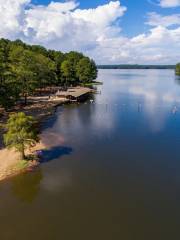
[[[0,39],[1,107],[8,108],[22,97],[26,102],[37,89],[84,84],[96,77],[95,62],[82,53]]]

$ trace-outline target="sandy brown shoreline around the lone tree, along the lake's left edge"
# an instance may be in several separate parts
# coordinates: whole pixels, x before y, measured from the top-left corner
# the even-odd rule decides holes
[[[54,100],[54,101],[42,101],[42,102],[36,102],[31,103],[25,107],[16,106],[11,113],[13,112],[24,112],[27,115],[31,115],[35,118],[37,121],[37,124],[39,125],[39,135],[41,134],[41,124],[42,122],[49,116],[53,115],[56,108],[58,106],[62,106],[63,104],[68,103],[67,100],[61,99],[61,100]],[[5,116],[3,115],[3,118],[0,121],[0,124],[3,124],[6,122],[8,118],[8,113],[5,113]],[[9,150],[4,147],[2,143],[2,135],[3,131],[0,131],[0,182],[7,180],[11,177],[14,177],[16,175],[19,175],[21,173],[25,173],[28,171],[33,171],[36,167],[40,165],[40,159],[35,154],[38,150],[44,150],[46,149],[46,146],[41,141],[40,136],[40,142],[37,143],[34,147],[27,150],[28,156],[33,156],[32,160],[19,160],[19,154],[14,150]],[[23,163],[24,162],[24,163]]]

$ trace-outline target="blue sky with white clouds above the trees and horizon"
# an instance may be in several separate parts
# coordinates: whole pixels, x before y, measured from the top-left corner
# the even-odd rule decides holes
[[[1,0],[0,37],[98,64],[180,61],[180,0]]]

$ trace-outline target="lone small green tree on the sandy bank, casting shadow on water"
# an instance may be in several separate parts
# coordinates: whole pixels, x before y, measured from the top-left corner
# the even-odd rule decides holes
[[[26,158],[25,149],[39,141],[35,123],[33,117],[20,112],[10,115],[5,126],[4,143],[20,152],[21,159]]]

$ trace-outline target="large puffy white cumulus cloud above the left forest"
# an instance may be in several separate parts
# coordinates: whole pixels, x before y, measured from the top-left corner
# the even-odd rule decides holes
[[[50,48],[85,51],[94,48],[99,38],[117,30],[111,24],[125,11],[119,1],[88,10],[76,7],[74,2],[52,2],[27,10],[25,37]]]

